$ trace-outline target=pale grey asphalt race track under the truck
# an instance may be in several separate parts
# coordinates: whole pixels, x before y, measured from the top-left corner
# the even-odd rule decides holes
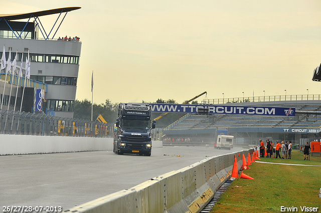
[[[0,204],[2,210],[23,205],[67,210],[209,156],[239,150],[164,146],[152,149],[151,156],[112,151],[0,156]]]

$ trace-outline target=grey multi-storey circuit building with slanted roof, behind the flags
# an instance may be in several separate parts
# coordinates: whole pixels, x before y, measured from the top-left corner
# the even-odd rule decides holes
[[[55,32],[46,32],[42,27],[40,17],[52,14],[64,14],[64,16],[66,16],[68,12],[77,9],[80,8],[72,7],[28,14],[0,15],[0,56],[2,56],[3,45],[6,46],[7,60],[10,48],[12,60],[16,55],[16,50],[18,50],[17,64],[20,65],[21,60],[23,60],[23,67],[25,67],[26,56],[29,51],[31,61],[30,79],[47,84],[43,110],[52,109],[55,112],[55,116],[73,117],[81,42],[68,40],[58,41],[57,38],[53,38]],[[27,22],[20,21],[26,19],[28,20]],[[58,22],[55,24],[59,25]],[[54,29],[54,26],[52,29]],[[52,38],[50,38],[51,36]],[[24,53],[23,59],[22,53]],[[1,79],[0,97],[2,97],[4,88],[5,70],[1,71]],[[17,86],[14,86],[11,99],[15,99],[16,90]],[[10,95],[8,83],[4,95],[5,98]],[[18,98],[20,101],[21,97],[22,87],[19,86]],[[0,103],[1,100],[2,98],[0,99]],[[29,101],[34,102],[34,100]],[[11,103],[7,103],[6,101],[3,103],[6,109],[8,104],[10,104],[10,109],[13,110],[12,101]],[[26,107],[26,105],[28,105],[28,100],[25,102],[24,98],[23,110],[28,111],[29,109],[27,109],[28,107]],[[15,110],[19,110],[19,108],[20,105],[19,107],[17,106]]]

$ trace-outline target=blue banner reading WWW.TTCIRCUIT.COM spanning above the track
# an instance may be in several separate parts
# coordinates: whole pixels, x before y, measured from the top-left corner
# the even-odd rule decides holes
[[[199,108],[209,109],[209,114],[295,116],[295,108],[192,105],[192,104],[150,104],[152,112],[198,113]]]

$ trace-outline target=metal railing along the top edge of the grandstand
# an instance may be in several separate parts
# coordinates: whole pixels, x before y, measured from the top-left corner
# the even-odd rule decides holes
[[[262,101],[308,101],[321,100],[321,95],[271,95],[271,96],[253,96],[241,98],[217,98],[204,99],[202,104],[227,104],[227,103],[244,103],[244,102],[262,102]]]

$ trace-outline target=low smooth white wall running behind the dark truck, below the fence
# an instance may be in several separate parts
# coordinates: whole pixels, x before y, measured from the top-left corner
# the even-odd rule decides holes
[[[152,141],[153,148],[163,141]],[[0,155],[113,150],[113,138],[0,135]]]

